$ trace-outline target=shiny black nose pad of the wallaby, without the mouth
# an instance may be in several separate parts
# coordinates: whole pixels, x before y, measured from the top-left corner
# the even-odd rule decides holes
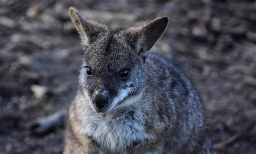
[[[101,109],[109,102],[109,94],[104,92],[96,93],[92,96],[92,103],[98,108]]]

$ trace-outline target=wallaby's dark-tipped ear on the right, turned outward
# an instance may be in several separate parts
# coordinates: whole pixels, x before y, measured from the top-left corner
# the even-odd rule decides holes
[[[128,37],[132,37],[130,44],[133,47],[136,47],[139,54],[149,51],[165,31],[168,22],[168,17],[161,17],[154,19],[143,26],[131,27],[127,30],[129,33]]]

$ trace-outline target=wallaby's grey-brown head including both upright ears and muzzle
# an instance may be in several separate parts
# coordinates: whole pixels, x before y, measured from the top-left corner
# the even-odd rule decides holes
[[[79,88],[96,112],[107,112],[136,102],[146,85],[145,52],[164,32],[169,19],[111,32],[70,8],[84,49]],[[87,103],[87,102],[85,102]]]

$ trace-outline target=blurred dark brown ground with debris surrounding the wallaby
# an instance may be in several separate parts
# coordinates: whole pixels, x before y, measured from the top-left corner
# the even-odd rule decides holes
[[[253,0],[1,0],[0,153],[62,153],[82,57],[70,6],[112,30],[168,16],[152,51],[178,61],[198,89],[213,153],[255,154]]]

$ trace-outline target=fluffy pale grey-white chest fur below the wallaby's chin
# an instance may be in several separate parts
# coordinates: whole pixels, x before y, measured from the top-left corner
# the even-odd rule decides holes
[[[73,121],[73,131],[96,142],[100,149],[125,151],[134,143],[150,139],[145,130],[145,120],[139,109],[126,109],[111,114],[96,114],[94,111],[76,111],[79,117]],[[72,115],[70,118],[73,118]],[[71,120],[72,121],[72,120]]]

